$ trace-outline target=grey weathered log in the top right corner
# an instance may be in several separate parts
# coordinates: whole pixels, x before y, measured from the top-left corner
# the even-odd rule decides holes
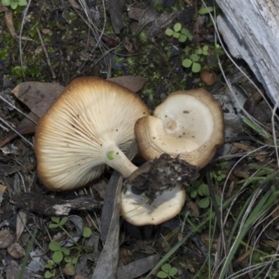
[[[216,0],[217,26],[229,52],[244,59],[274,104],[279,98],[279,1]]]

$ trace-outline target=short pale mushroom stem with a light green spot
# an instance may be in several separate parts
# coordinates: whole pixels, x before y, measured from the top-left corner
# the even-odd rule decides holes
[[[125,178],[130,176],[130,174],[137,169],[137,167],[126,157],[123,151],[114,144],[107,147],[104,157],[105,164],[116,169]]]

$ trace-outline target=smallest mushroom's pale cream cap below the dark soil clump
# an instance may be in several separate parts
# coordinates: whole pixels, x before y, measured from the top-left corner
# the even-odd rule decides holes
[[[158,225],[174,218],[181,211],[185,198],[185,190],[177,183],[176,187],[163,191],[149,204],[144,195],[135,195],[128,185],[121,192],[120,213],[135,226]]]

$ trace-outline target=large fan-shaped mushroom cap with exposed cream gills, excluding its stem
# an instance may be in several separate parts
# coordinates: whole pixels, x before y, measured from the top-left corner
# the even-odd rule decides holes
[[[145,115],[149,110],[140,97],[119,84],[98,77],[73,80],[36,128],[40,180],[51,190],[73,190],[98,178],[106,146],[125,152],[135,139],[135,122]]]

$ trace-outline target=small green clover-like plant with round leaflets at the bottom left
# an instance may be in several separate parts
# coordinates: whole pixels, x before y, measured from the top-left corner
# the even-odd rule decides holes
[[[50,229],[59,228],[61,229],[74,243],[74,246],[70,248],[61,247],[61,245],[56,241],[51,241],[49,244],[50,250],[53,252],[52,259],[50,259],[45,265],[45,269],[48,269],[45,272],[45,278],[52,278],[55,274],[56,264],[64,262],[65,267],[63,272],[68,276],[75,275],[75,268],[77,266],[78,259],[80,254],[84,249],[84,241],[86,237],[91,236],[91,229],[89,227],[84,227],[82,231],[82,244],[78,244],[75,239],[67,232],[64,225],[67,223],[68,218],[63,217],[52,217],[52,223],[50,223]]]

